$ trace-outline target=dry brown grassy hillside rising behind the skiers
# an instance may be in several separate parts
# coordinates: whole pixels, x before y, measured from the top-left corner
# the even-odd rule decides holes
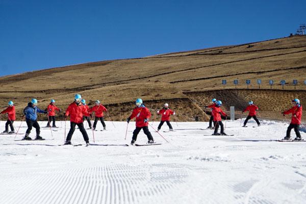
[[[223,89],[221,80],[227,80]],[[233,80],[239,80],[237,89]],[[251,85],[246,89],[245,80]],[[256,80],[262,80],[258,89]],[[292,81],[299,84],[294,91]],[[275,85],[270,90],[269,80]],[[285,90],[279,85],[286,80]],[[223,100],[224,109],[236,106],[240,112],[252,99],[261,116],[279,118],[290,100],[306,101],[306,36],[293,36],[170,53],[137,59],[93,62],[8,75],[0,78],[0,105],[16,104],[18,116],[32,97],[46,108],[54,98],[62,109],[80,93],[89,102],[99,99],[114,120],[124,120],[141,97],[155,111],[164,103],[177,112],[177,120],[193,121],[196,114],[207,120],[205,106],[212,97]],[[303,116],[305,120],[306,114]],[[158,120],[156,114],[153,119]]]

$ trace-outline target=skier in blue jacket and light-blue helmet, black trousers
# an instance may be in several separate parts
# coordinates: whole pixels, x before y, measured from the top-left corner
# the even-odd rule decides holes
[[[28,130],[25,132],[25,136],[23,140],[32,140],[31,137],[29,137],[32,127],[35,127],[36,129],[36,138],[35,140],[44,140],[42,137],[40,137],[40,126],[37,122],[37,113],[45,113],[47,114],[47,111],[40,110],[37,107],[37,99],[33,98],[31,100],[31,103],[28,104],[27,107],[24,108],[23,110],[24,116],[25,116],[25,121],[27,122],[28,125]]]

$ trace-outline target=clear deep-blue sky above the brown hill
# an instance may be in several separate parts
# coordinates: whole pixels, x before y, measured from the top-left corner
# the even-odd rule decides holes
[[[306,1],[0,0],[0,76],[289,36]]]

